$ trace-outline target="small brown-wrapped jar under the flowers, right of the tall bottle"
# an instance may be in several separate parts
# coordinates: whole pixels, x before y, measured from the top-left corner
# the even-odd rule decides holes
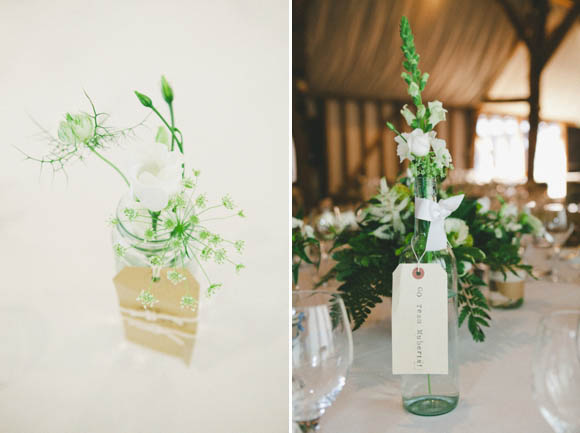
[[[518,275],[508,271],[505,276],[498,271],[490,272],[488,304],[504,310],[521,307],[524,304],[525,279],[523,271],[519,271]]]

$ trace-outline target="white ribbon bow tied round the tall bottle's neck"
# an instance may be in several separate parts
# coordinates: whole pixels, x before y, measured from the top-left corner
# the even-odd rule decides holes
[[[463,200],[463,194],[455,195],[439,203],[425,198],[415,197],[415,218],[430,221],[427,245],[425,251],[439,251],[447,248],[447,235],[445,234],[445,218],[459,207]]]

